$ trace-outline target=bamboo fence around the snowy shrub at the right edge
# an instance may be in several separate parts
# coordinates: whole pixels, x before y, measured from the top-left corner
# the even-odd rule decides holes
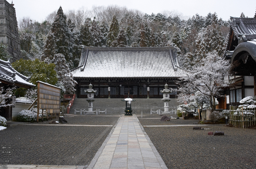
[[[256,125],[256,107],[229,106],[229,123],[238,128],[248,128]]]

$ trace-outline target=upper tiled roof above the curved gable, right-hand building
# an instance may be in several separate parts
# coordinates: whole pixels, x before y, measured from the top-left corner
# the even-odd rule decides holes
[[[238,38],[244,35],[247,40],[256,39],[256,18],[235,18],[230,22],[230,26]]]

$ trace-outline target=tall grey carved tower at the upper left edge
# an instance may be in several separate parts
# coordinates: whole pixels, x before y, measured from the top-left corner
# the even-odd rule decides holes
[[[11,63],[22,58],[18,22],[13,6],[13,3],[0,0],[0,42],[8,46],[8,52],[12,56]]]

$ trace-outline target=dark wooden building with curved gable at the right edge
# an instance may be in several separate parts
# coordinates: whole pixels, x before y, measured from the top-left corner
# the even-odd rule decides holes
[[[234,75],[229,77],[234,83],[226,91],[226,105],[240,105],[241,99],[256,96],[256,18],[231,17],[226,53]]]

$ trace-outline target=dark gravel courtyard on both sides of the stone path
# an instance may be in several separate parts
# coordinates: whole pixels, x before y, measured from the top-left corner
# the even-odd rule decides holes
[[[142,126],[188,125],[199,121],[171,119],[160,122],[161,116],[157,114],[143,114],[142,118],[140,114],[136,115]],[[65,119],[69,125],[114,126],[119,117],[69,115]],[[10,164],[89,165],[112,129],[103,126],[60,125],[19,125],[0,131],[1,145],[16,145],[12,147],[12,156],[19,157],[13,158]],[[144,127],[144,130],[169,169],[256,168],[256,130],[224,125],[202,128],[207,130],[193,130],[193,126]],[[207,135],[209,131],[224,131],[225,135]]]

